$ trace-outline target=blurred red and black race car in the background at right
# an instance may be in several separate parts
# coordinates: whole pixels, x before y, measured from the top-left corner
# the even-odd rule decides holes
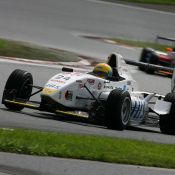
[[[167,52],[158,51],[152,48],[143,48],[140,55],[140,62],[161,65],[166,67],[175,67],[175,49],[166,48]],[[173,55],[174,54],[174,55]],[[149,74],[155,72],[154,69],[139,67],[140,70],[146,71]],[[163,75],[172,75],[171,71],[158,70],[158,73]]]

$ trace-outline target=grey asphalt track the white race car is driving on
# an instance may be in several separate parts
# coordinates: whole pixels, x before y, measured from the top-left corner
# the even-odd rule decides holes
[[[3,92],[3,87],[5,86],[6,77],[11,73],[12,69],[24,69],[32,73],[34,84],[43,86],[45,82],[54,74],[60,71],[59,68],[49,68],[42,66],[31,66],[31,65],[18,65],[11,63],[1,63],[0,70],[2,71],[3,77],[1,79],[2,84],[0,85],[0,93]],[[140,84],[140,90],[147,90],[150,92],[157,92],[164,94],[164,92],[170,91],[170,79],[167,77],[151,76],[140,72],[137,68],[132,67],[131,72]],[[143,79],[143,76],[147,77]],[[145,82],[146,81],[146,82]],[[152,83],[156,81],[156,84]],[[162,85],[163,82],[163,85]],[[149,89],[146,87],[150,85]],[[157,90],[157,87],[160,87]],[[40,100],[40,96],[37,95],[33,100]],[[114,131],[108,130],[102,126],[94,126],[84,122],[77,122],[76,120],[56,118],[55,115],[46,115],[46,113],[24,109],[22,112],[12,112],[5,109],[1,104],[1,116],[0,116],[0,126],[1,127],[22,127],[22,128],[32,128],[48,131],[61,131],[61,132],[71,132],[71,133],[81,133],[81,134],[96,134],[96,135],[106,135],[114,137],[124,137],[124,138],[135,138],[144,139],[149,141],[161,142],[161,143],[175,143],[174,136],[168,136],[160,134],[159,128],[148,128],[149,130],[138,130],[137,128],[125,131]],[[145,128],[146,129],[146,128]]]

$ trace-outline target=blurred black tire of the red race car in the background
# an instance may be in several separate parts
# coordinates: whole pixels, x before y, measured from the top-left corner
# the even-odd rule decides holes
[[[140,62],[143,63],[149,63],[149,64],[155,64],[157,65],[159,62],[159,57],[156,55],[155,51],[151,48],[144,48],[141,52],[140,55]],[[143,67],[139,67],[140,70],[142,71],[146,71],[148,74],[154,74],[154,70],[153,69],[145,69]]]

